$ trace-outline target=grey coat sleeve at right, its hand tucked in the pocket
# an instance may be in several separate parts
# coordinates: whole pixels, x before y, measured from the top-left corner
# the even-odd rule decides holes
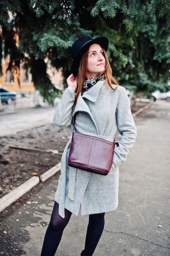
[[[115,148],[113,162],[119,166],[127,158],[137,136],[136,126],[130,108],[130,99],[123,88],[117,101],[117,128],[121,135],[119,146]]]

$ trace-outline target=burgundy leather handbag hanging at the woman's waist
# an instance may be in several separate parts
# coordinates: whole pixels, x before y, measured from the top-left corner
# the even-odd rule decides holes
[[[74,132],[73,127],[68,166],[107,175],[113,164],[115,145],[119,146],[118,142]]]

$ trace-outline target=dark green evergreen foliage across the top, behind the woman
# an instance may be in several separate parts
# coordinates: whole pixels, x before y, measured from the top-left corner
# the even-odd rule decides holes
[[[137,92],[167,89],[170,0],[6,0],[0,1],[0,27],[5,56],[16,68],[20,61],[31,67],[36,90],[50,104],[60,92],[46,74],[44,60],[62,68],[66,79],[70,47],[80,36],[108,37],[113,75],[121,85]]]

